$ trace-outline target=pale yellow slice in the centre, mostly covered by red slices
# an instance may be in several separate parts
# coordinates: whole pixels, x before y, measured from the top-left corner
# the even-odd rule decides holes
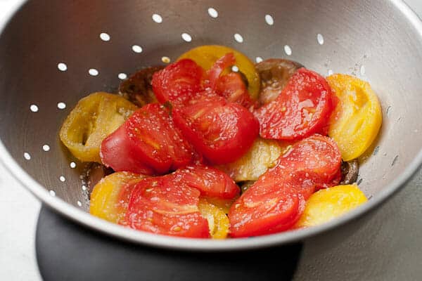
[[[252,148],[235,162],[218,166],[234,181],[256,181],[288,147],[288,143],[257,138]]]

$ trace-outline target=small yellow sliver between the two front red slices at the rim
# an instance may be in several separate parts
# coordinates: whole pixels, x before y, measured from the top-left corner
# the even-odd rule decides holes
[[[229,233],[229,218],[219,207],[211,204],[205,199],[199,200],[199,211],[208,221],[210,236],[212,239],[224,239]]]

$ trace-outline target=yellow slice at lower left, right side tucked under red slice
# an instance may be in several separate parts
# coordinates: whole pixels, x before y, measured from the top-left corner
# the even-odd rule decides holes
[[[119,171],[101,179],[92,190],[89,212],[112,223],[122,223],[130,193],[143,175]]]

